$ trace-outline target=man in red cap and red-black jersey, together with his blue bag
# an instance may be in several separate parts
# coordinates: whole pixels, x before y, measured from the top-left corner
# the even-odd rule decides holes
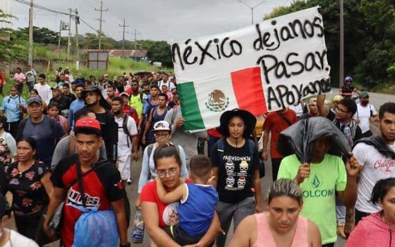
[[[112,163],[99,160],[97,155],[98,148],[103,145],[100,122],[82,118],[76,122],[74,130],[78,154],[64,157],[52,173],[54,188],[44,222],[44,232],[53,237],[49,221],[58,206],[64,202],[60,230],[64,246],[84,246],[79,241],[91,241],[91,246],[116,246],[109,240],[116,238],[114,230],[116,232],[118,229],[120,246],[128,247],[130,244],[123,202],[125,189],[121,176]],[[91,215],[81,211],[93,209],[98,211]],[[87,217],[97,224],[94,227],[89,225]],[[83,230],[83,236],[75,235],[75,232],[80,232],[75,231],[76,227],[83,226],[83,223],[87,226]]]

